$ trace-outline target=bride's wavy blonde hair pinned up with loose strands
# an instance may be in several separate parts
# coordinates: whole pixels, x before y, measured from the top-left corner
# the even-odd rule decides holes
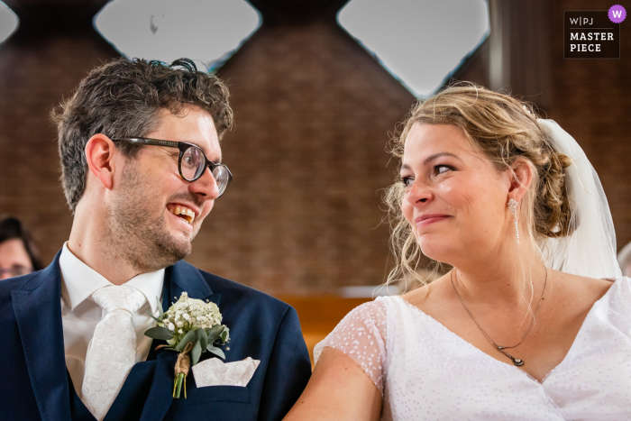
[[[533,181],[518,207],[519,224],[543,259],[539,244],[545,238],[572,233],[564,180],[564,169],[572,160],[553,150],[536,118],[532,105],[512,96],[469,83],[446,87],[418,101],[403,122],[400,136],[392,140],[390,152],[400,165],[407,134],[414,124],[450,124],[460,127],[474,148],[498,171],[512,169],[516,160],[525,160],[533,169]],[[403,180],[398,176],[384,197],[392,225],[390,245],[396,257],[388,281],[418,279],[425,284],[425,279],[416,273],[421,249],[401,210],[405,193]]]

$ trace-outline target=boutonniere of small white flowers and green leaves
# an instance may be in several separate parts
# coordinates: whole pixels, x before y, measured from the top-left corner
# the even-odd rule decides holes
[[[224,345],[230,340],[230,330],[222,325],[222,316],[215,303],[201,299],[189,298],[182,292],[175,304],[166,313],[162,311],[158,300],[160,317],[154,317],[147,311],[158,326],[151,327],[144,334],[153,339],[167,341],[168,345],[160,345],[169,351],[179,352],[175,364],[175,380],[173,380],[173,398],[179,398],[184,385],[184,398],[187,398],[188,369],[199,361],[204,352],[212,352],[225,359],[224,352],[215,345]],[[190,357],[188,354],[190,353]]]

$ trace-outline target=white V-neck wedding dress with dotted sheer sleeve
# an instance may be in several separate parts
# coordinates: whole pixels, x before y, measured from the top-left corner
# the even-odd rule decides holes
[[[631,279],[591,308],[570,352],[539,383],[401,297],[355,308],[315,346],[338,349],[383,396],[381,420],[631,420]]]

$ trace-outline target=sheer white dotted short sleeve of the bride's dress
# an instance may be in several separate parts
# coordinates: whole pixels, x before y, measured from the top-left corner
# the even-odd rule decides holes
[[[386,371],[386,308],[380,300],[354,308],[325,340],[315,345],[317,364],[325,346],[344,352],[357,362],[383,396]]]

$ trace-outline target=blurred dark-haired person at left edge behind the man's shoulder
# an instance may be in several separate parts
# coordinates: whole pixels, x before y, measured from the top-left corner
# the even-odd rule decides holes
[[[11,216],[0,218],[0,279],[42,269],[40,253],[22,222]]]

